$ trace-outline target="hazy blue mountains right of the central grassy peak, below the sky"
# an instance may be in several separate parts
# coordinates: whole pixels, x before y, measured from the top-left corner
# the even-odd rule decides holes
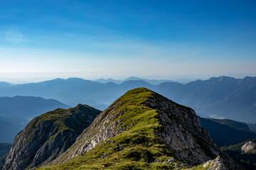
[[[161,94],[194,108],[198,115],[256,123],[256,77],[214,77],[185,85],[159,86]]]

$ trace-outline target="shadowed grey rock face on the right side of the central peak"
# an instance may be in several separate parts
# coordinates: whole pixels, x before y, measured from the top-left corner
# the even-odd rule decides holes
[[[220,150],[208,132],[201,128],[193,109],[156,98],[150,98],[145,103],[159,111],[163,129],[156,134],[176,153],[178,159],[195,166],[220,155]]]

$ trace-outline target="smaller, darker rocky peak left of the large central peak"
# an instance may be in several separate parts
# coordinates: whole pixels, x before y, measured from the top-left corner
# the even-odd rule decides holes
[[[47,164],[65,152],[100,112],[79,104],[34,118],[16,135],[4,169],[31,169]]]

